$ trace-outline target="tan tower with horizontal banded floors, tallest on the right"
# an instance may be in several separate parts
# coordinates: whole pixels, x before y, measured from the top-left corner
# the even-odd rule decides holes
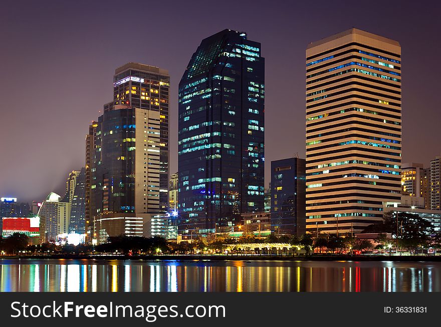
[[[360,232],[400,202],[400,55],[398,42],[357,29],[308,46],[308,231]]]

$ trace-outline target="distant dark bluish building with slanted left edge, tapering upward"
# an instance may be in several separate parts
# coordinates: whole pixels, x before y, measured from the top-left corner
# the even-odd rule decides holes
[[[86,168],[76,177],[75,190],[71,200],[69,233],[86,233]]]

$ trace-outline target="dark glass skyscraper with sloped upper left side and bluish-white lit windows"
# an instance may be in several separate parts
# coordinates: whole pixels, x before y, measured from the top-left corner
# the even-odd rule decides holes
[[[229,231],[264,210],[265,60],[247,34],[202,40],[179,83],[180,234]]]

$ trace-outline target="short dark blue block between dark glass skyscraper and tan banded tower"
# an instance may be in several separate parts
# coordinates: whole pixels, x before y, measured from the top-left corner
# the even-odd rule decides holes
[[[271,188],[271,231],[278,236],[305,234],[305,159],[271,161]]]

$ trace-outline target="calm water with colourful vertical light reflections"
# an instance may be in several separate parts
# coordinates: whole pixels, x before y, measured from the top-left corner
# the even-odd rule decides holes
[[[441,263],[0,259],[0,291],[439,292]]]

